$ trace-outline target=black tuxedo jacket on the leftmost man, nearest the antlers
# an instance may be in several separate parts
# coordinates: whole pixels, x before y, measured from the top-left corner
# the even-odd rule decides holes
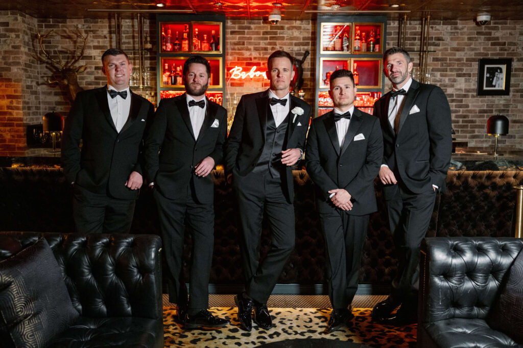
[[[131,98],[129,118],[118,133],[109,111],[107,86],[76,94],[62,136],[63,170],[69,182],[114,198],[138,197],[138,190],[125,183],[131,172],[142,174],[143,134],[154,106],[132,91],[127,98]]]

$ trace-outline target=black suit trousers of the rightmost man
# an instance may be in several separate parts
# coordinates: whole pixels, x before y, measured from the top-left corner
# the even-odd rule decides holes
[[[388,190],[389,224],[399,260],[392,281],[392,296],[397,303],[408,301],[409,305],[416,306],[419,249],[428,230],[436,193],[430,187],[423,193],[414,194],[401,181],[384,189]]]

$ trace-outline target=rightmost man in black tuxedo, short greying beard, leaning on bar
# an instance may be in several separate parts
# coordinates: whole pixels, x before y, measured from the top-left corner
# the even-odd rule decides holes
[[[383,66],[393,91],[374,104],[384,147],[379,177],[399,264],[392,292],[374,307],[372,319],[405,325],[417,320],[419,247],[436,190],[446,189],[452,125],[445,93],[410,77],[412,62],[405,50],[392,47],[385,51]]]

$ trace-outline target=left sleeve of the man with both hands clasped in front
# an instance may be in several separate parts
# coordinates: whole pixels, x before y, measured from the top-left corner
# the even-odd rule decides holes
[[[312,178],[312,181],[318,186],[325,200],[328,199],[328,190],[338,188],[338,185],[328,176],[320,163],[320,151],[318,148],[318,135],[316,122],[311,124],[309,135],[307,136],[307,146],[305,151],[305,169]]]

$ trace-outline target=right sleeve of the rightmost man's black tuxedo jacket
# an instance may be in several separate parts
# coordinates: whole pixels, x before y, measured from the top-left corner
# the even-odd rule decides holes
[[[445,186],[452,153],[452,118],[447,97],[434,88],[427,100],[427,126],[430,141],[429,175],[433,185]]]

